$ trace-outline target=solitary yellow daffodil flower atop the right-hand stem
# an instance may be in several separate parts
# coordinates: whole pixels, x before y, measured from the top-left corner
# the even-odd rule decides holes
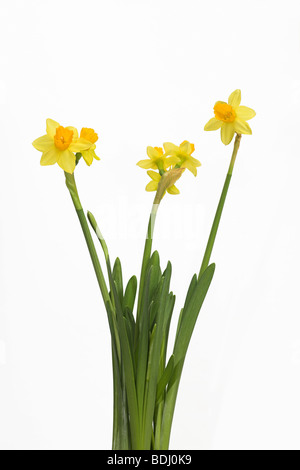
[[[252,134],[246,121],[256,113],[247,106],[240,106],[241,90],[235,90],[228,98],[228,103],[217,101],[214,106],[215,117],[205,125],[205,131],[216,131],[221,128],[221,140],[228,145],[235,134]]]

